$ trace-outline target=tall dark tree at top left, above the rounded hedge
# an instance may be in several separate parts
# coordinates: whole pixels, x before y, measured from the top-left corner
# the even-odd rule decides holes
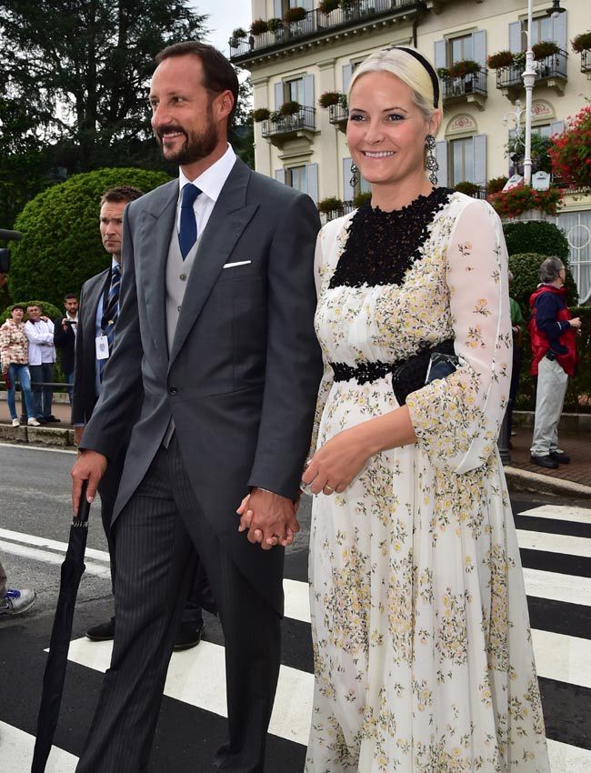
[[[74,144],[68,171],[129,161],[153,147],[146,85],[155,54],[201,38],[204,21],[189,0],[0,2],[0,85],[13,113],[20,105],[25,137]]]

